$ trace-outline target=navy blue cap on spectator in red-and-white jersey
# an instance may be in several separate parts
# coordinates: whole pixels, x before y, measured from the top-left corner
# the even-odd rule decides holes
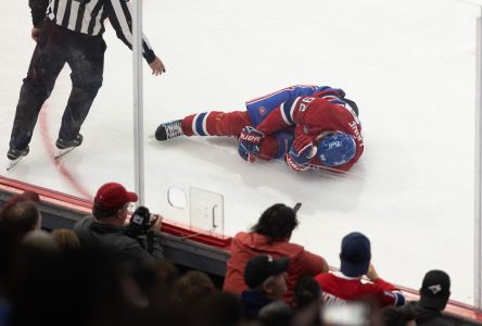
[[[341,272],[357,277],[368,272],[371,260],[370,240],[360,233],[351,233],[342,239]]]

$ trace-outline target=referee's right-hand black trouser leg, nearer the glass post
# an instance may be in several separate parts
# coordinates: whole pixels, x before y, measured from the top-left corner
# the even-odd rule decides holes
[[[101,38],[72,45],[67,53],[72,92],[62,116],[59,138],[74,140],[102,86],[105,43]]]

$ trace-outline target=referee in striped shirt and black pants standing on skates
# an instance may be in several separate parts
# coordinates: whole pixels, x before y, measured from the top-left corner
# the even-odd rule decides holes
[[[65,108],[59,138],[59,152],[80,146],[80,127],[93,99],[102,86],[104,52],[102,38],[106,18],[117,37],[132,48],[131,13],[128,0],[29,0],[34,27],[31,38],[37,46],[24,79],[10,149],[9,167],[28,154],[28,143],[43,102],[49,98],[62,67],[71,67],[72,92]],[[153,75],[165,72],[143,36],[142,54]]]

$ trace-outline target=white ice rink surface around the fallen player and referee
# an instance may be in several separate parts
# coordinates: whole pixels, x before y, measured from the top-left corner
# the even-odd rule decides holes
[[[152,211],[189,224],[189,208],[169,206],[168,188],[221,193],[224,231],[234,235],[272,203],[303,202],[292,240],[330,265],[339,265],[341,238],[363,231],[383,278],[417,289],[427,271],[442,268],[452,276],[452,298],[473,302],[475,1],[144,0],[143,14],[144,34],[167,67],[153,77],[144,64]],[[0,27],[4,155],[35,47],[27,3],[5,3]],[[60,165],[52,160],[71,88],[65,67],[30,154],[1,175],[83,198],[111,180],[132,189],[131,54],[106,29],[104,85],[81,148]],[[229,138],[148,138],[161,122],[242,110],[251,98],[296,84],[340,87],[357,102],[366,148],[350,173],[249,164]]]

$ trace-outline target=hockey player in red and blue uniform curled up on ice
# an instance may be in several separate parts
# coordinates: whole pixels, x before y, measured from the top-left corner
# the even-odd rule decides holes
[[[249,162],[283,158],[295,171],[348,171],[364,151],[355,102],[329,86],[293,86],[246,102],[246,111],[204,112],[161,124],[155,139],[234,136]]]

